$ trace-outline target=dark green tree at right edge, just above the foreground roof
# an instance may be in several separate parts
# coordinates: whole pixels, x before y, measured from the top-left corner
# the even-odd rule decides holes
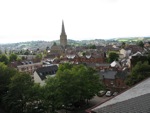
[[[150,65],[148,62],[138,62],[131,71],[131,74],[126,78],[126,84],[132,86],[150,75]]]

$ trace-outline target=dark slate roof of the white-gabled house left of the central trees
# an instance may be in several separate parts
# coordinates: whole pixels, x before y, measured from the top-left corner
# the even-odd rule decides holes
[[[56,74],[57,70],[58,70],[57,65],[51,65],[51,66],[47,66],[47,67],[38,68],[36,70],[36,72],[39,75],[39,77],[41,78],[41,80],[44,80],[44,79],[46,79],[46,76]]]

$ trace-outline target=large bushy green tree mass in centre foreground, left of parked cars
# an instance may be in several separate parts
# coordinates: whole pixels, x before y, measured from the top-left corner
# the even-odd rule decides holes
[[[70,103],[80,106],[91,99],[102,88],[99,76],[92,68],[84,65],[65,64],[59,69],[56,78],[59,80],[61,101],[64,106]],[[69,67],[69,68],[64,68]]]

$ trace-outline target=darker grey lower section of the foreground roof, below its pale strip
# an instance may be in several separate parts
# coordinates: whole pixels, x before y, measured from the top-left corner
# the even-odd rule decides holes
[[[150,93],[105,106],[96,113],[150,113]]]

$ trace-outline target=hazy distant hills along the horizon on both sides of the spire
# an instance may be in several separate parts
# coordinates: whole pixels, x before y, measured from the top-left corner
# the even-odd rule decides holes
[[[136,42],[136,41],[150,41],[150,37],[129,37],[129,38],[113,38],[113,39],[93,39],[93,40],[71,40],[68,39],[68,45],[71,46],[86,46],[90,44],[95,45],[106,45],[111,42]],[[60,44],[59,40],[54,41],[28,41],[28,42],[19,42],[19,43],[11,43],[11,44],[0,44],[0,50],[36,50],[41,49],[45,50],[47,47],[51,47],[53,43],[56,42],[58,45]]]

